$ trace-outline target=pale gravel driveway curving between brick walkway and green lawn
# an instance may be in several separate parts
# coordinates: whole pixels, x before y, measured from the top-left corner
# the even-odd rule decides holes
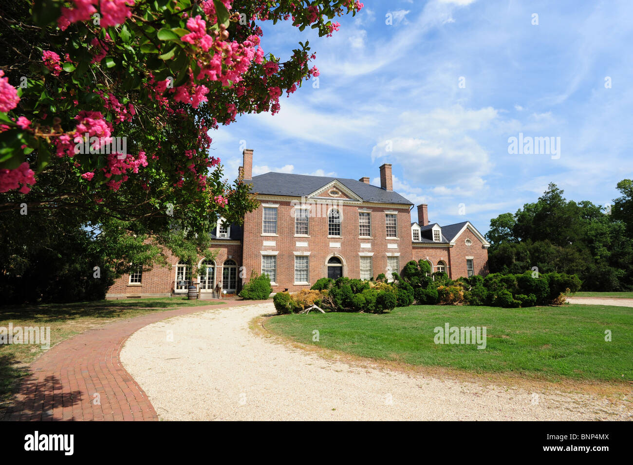
[[[350,366],[249,330],[272,304],[153,323],[121,360],[164,420],[631,419],[630,402]]]

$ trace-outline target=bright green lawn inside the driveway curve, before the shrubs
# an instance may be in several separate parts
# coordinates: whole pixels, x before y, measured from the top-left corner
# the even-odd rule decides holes
[[[487,347],[435,344],[434,328],[486,326]],[[555,381],[633,380],[633,308],[411,306],[387,314],[274,316],[273,333],[370,359]],[[313,342],[313,330],[319,342]],[[605,342],[611,330],[612,342]],[[624,376],[622,376],[624,375]]]

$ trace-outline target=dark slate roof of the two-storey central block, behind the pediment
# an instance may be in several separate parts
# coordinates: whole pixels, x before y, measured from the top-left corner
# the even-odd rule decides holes
[[[258,194],[302,197],[316,192],[334,180],[340,182],[365,202],[413,205],[398,192],[384,190],[375,185],[348,178],[270,172],[254,176],[252,180],[246,180],[246,182],[252,183],[251,192]]]

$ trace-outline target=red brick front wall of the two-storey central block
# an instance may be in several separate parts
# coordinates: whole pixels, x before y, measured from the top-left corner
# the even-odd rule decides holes
[[[299,200],[299,199],[298,199]],[[262,200],[264,204],[279,204],[277,209],[277,236],[262,235],[263,207],[246,214],[244,218],[244,281],[248,281],[251,270],[261,273],[261,251],[277,251],[277,286],[273,292],[288,288],[296,292],[319,278],[327,276],[326,262],[336,254],[344,264],[343,275],[350,278],[360,277],[360,256],[358,252],[373,252],[373,276],[385,273],[387,252],[399,252],[399,265],[411,260],[411,215],[407,206],[401,208],[379,207],[373,204],[339,205],[342,213],[341,237],[328,237],[327,208],[312,206],[308,220],[310,237],[295,237],[294,216],[291,201]],[[371,209],[372,239],[359,238],[358,209]],[[398,240],[387,240],[385,230],[385,211],[398,211]],[[264,246],[264,241],[275,241],[274,246]],[[297,247],[297,242],[307,242],[308,247]],[[330,247],[330,242],[340,243],[341,247]],[[387,244],[397,244],[397,249],[388,249]],[[371,248],[361,249],[360,244],[372,244]],[[308,259],[310,285],[294,285],[294,252],[310,252]]]

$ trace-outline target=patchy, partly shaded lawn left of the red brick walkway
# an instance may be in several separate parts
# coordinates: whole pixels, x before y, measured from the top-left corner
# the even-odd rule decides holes
[[[222,304],[217,301],[189,301],[182,297],[125,299],[121,301],[77,302],[0,307],[0,327],[50,326],[51,347],[95,326],[115,319],[166,311],[178,307]],[[25,364],[41,354],[41,345],[0,344],[0,405],[7,400],[16,381],[27,373]]]

